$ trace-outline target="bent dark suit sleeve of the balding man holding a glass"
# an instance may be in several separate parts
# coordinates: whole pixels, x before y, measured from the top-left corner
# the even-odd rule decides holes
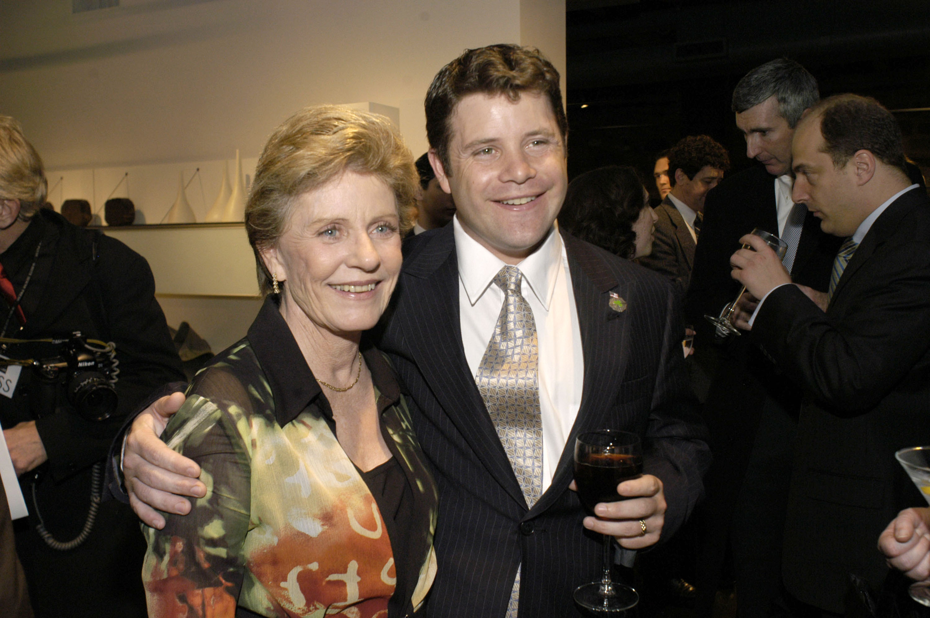
[[[781,368],[833,414],[867,412],[901,382],[930,342],[930,246],[883,243],[824,313],[794,285],[777,288],[752,332]],[[837,296],[834,300],[839,300]],[[847,300],[848,299],[848,300]]]

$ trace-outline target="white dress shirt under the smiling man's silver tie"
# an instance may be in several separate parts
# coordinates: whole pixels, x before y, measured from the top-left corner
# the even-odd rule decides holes
[[[458,216],[453,221],[462,345],[469,370],[475,375],[504,304],[503,290],[493,283],[504,262],[462,230]],[[578,416],[584,386],[578,310],[565,244],[556,226],[545,243],[517,268],[523,273],[522,294],[536,322],[545,492]]]

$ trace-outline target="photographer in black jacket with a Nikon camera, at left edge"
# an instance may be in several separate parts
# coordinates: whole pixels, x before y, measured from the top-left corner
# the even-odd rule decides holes
[[[126,413],[184,375],[148,263],[40,209],[46,187],[20,126],[0,116],[0,336],[14,339],[0,355],[46,367],[0,364],[0,422],[29,508],[14,522],[16,550],[37,616],[144,616],[145,544],[126,506],[98,508],[96,464]],[[72,343],[35,341],[48,338]],[[94,360],[97,382],[74,379],[78,356]],[[100,406],[76,404],[82,393]]]

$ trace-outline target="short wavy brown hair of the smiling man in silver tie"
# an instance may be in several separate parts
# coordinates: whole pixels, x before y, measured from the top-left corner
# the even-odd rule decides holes
[[[568,120],[562,106],[559,72],[536,47],[492,45],[468,49],[445,65],[432,79],[426,93],[426,137],[443,162],[446,176],[449,167],[449,120],[458,101],[475,93],[506,95],[512,101],[524,92],[549,99],[562,141],[568,138]]]

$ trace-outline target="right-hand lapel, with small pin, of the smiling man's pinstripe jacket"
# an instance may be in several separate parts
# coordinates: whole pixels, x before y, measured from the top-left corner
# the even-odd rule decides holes
[[[626,282],[619,282],[604,265],[603,258],[587,243],[566,233],[562,234],[568,267],[572,276],[572,290],[578,311],[581,348],[584,358],[584,387],[578,416],[572,426],[565,449],[552,475],[550,488],[533,506],[532,517],[549,508],[565,492],[573,476],[575,440],[579,433],[606,427],[610,402],[614,400],[618,375],[622,375],[627,362],[619,353],[627,349],[629,320],[627,313],[610,309],[609,293],[630,302],[632,290]]]

